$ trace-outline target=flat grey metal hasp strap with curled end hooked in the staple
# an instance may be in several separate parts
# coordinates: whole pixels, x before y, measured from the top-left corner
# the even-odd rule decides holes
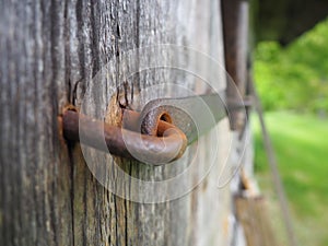
[[[154,134],[159,118],[166,114],[171,116],[173,125],[186,134],[188,144],[191,144],[227,116],[224,94],[152,99],[140,113],[141,131]]]

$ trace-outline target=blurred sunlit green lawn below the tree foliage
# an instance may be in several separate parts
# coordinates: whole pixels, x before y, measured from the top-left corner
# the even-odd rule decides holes
[[[266,122],[290,202],[300,245],[328,245],[328,119],[293,112],[266,113]],[[259,186],[280,214],[257,116],[251,117],[255,168]],[[273,220],[282,236],[281,220]],[[285,239],[284,239],[285,242]]]

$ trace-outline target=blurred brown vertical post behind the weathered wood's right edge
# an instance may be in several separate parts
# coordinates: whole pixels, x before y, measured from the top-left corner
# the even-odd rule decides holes
[[[248,1],[222,0],[225,67],[229,73],[226,96],[242,104],[245,96],[248,56]],[[231,128],[243,130],[245,115],[232,110]]]

